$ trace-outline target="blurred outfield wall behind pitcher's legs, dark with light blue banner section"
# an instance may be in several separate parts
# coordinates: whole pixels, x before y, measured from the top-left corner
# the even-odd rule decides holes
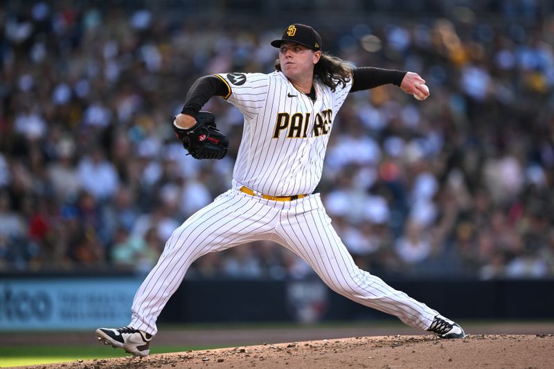
[[[2,276],[0,331],[88,330],[129,321],[133,276]],[[452,318],[554,319],[554,280],[387,280]],[[160,322],[353,321],[391,318],[318,280],[186,280]]]

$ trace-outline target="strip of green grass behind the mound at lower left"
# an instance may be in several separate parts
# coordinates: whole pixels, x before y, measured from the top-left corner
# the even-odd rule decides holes
[[[188,350],[206,350],[214,347],[187,347],[179,345],[161,345],[150,350],[151,354],[164,352],[181,352]],[[129,356],[123,350],[115,350],[108,346],[2,346],[0,347],[0,368],[10,366],[28,366],[46,363],[61,363],[63,361],[109,359],[111,357]]]

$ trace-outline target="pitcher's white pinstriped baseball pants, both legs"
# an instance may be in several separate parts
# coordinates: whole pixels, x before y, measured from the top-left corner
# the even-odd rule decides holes
[[[236,186],[235,186],[236,187]],[[239,186],[240,187],[240,186]],[[272,240],[301,256],[333,291],[427,330],[438,314],[356,267],[331,226],[319,194],[272,201],[233,188],[181,224],[132,305],[135,329],[156,334],[156,321],[197,258],[256,240]]]

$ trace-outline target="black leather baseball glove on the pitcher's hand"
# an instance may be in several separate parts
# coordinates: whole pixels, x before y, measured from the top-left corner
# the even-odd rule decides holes
[[[195,159],[222,159],[229,149],[229,138],[215,127],[215,116],[209,111],[199,111],[196,124],[188,129],[179,128],[173,119],[173,131]]]

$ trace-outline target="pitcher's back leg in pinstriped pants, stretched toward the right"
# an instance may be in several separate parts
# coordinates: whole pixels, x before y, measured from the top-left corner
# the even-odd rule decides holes
[[[321,203],[319,197],[312,201]],[[296,216],[281,218],[279,235],[285,246],[305,259],[323,282],[337,293],[397,316],[411,327],[427,330],[438,312],[359,269],[332,228],[323,205],[319,210],[316,210],[319,206],[313,205],[313,210],[298,209]]]

